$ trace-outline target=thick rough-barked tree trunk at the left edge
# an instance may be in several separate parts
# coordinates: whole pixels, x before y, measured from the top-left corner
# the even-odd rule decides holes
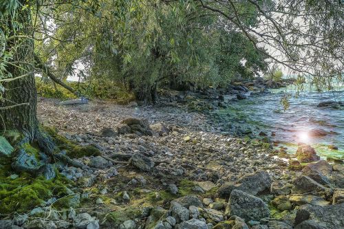
[[[22,6],[25,5],[23,0],[20,3]],[[19,7],[15,18],[8,19],[9,36],[15,36],[16,34],[32,35],[32,18],[29,9],[23,10]],[[14,20],[22,26],[12,28]],[[32,63],[34,63],[34,41],[28,38],[14,39],[8,43],[7,48],[8,50],[16,50],[12,61],[21,63],[19,67],[12,65],[8,67],[12,78],[27,76],[3,84],[6,91],[3,94],[0,107],[12,106],[12,108],[1,111],[3,122],[1,122],[0,128],[7,130],[18,129],[32,141],[36,138],[39,129],[36,118],[37,94],[34,83],[34,69],[32,67]]]

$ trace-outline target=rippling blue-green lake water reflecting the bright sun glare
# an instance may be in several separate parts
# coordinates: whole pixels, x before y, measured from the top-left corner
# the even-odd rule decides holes
[[[319,102],[344,101],[344,87],[336,87],[336,91],[318,93],[302,91],[296,98],[289,99],[290,107],[284,111],[281,98],[286,93],[295,93],[293,86],[286,89],[271,90],[271,94],[251,97],[247,100],[234,102],[228,109],[219,111],[241,121],[254,132],[266,131],[278,146],[286,146],[289,153],[295,153],[297,143],[304,142],[312,145],[321,157],[344,158],[344,109],[316,107]],[[235,120],[236,119],[236,120]],[[240,121],[239,121],[240,122]],[[325,131],[325,136],[312,136],[314,130]],[[328,148],[328,145],[338,147],[338,150]]]

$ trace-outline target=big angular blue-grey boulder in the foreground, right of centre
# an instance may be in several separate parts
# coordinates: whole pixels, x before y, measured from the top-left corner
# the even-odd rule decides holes
[[[245,221],[257,220],[270,216],[267,204],[258,197],[241,190],[233,190],[228,201],[229,215],[236,215]]]

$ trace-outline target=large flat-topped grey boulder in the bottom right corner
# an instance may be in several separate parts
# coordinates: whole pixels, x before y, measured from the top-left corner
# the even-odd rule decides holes
[[[329,206],[313,206],[306,204],[297,211],[295,228],[307,228],[305,225],[320,225],[326,229],[344,228],[344,204],[334,204]],[[300,217],[302,216],[302,217]],[[300,219],[301,218],[301,219]],[[303,221],[313,220],[315,223],[303,223]],[[303,223],[303,224],[301,224]],[[301,224],[301,226],[299,226]],[[308,227],[314,228],[314,227]]]

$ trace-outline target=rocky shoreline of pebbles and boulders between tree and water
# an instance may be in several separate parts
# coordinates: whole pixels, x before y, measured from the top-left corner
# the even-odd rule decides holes
[[[100,155],[76,158],[80,168],[54,164],[75,182],[69,195],[3,215],[0,228],[344,228],[343,164],[308,146],[287,155],[223,133],[207,112],[194,112],[199,95],[165,92],[160,105],[144,107],[42,98],[45,126]],[[219,106],[222,98],[209,95],[197,101],[214,97]]]

